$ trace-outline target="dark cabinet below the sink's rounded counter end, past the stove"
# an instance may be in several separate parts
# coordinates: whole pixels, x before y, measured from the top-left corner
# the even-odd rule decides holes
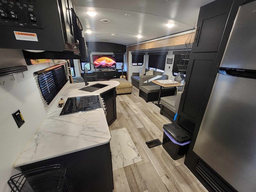
[[[104,99],[107,108],[106,119],[110,126],[116,120],[116,88],[112,88],[100,96]]]

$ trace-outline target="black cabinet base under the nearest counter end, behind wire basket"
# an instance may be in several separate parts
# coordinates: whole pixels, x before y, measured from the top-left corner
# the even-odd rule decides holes
[[[22,171],[52,165],[66,166],[73,192],[112,192],[114,189],[110,144],[20,166]]]

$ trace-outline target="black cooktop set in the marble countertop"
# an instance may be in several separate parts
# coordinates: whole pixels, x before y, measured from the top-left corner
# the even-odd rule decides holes
[[[98,108],[104,108],[100,95],[69,97],[60,115],[95,110]]]

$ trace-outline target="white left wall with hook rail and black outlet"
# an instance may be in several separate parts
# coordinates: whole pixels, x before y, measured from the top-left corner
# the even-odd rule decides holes
[[[0,68],[20,65],[26,65],[21,50],[0,49]],[[46,117],[33,73],[49,66],[27,66],[25,77],[21,78],[21,73],[14,74],[14,82],[10,81],[10,76],[0,77],[0,83],[4,82],[4,85],[0,85],[0,192],[10,192],[7,181],[18,173],[12,164]],[[12,113],[18,109],[25,120],[20,128],[12,117]]]

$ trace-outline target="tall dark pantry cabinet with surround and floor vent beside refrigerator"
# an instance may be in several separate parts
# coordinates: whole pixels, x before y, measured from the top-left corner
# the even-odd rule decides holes
[[[185,164],[211,192],[235,191],[193,151],[228,37],[239,6],[248,0],[216,0],[202,6],[176,124],[192,133]]]

